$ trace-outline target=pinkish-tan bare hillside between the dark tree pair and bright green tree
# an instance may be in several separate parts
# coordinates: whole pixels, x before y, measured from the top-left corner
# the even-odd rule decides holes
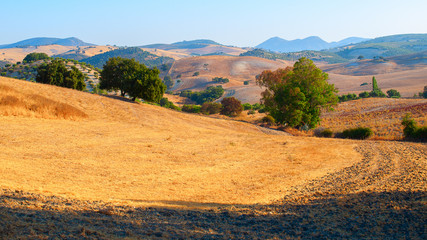
[[[259,101],[262,89],[255,85],[255,76],[264,70],[285,67],[285,61],[272,61],[256,57],[204,56],[177,60],[169,75],[175,79],[173,91],[203,90],[217,85],[212,78],[225,77],[230,82],[223,84],[225,96],[234,96],[243,102]],[[194,76],[198,72],[198,76]],[[178,82],[177,76],[180,82]],[[249,81],[248,85],[244,85]]]

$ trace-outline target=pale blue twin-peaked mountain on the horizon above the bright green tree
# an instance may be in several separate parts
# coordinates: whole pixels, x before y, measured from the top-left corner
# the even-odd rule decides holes
[[[256,48],[262,48],[275,52],[299,52],[304,50],[319,51],[323,49],[333,48],[348,45],[350,43],[358,43],[367,40],[366,38],[351,37],[339,42],[328,43],[317,36],[312,36],[304,39],[285,40],[279,37],[273,37],[259,44]]]

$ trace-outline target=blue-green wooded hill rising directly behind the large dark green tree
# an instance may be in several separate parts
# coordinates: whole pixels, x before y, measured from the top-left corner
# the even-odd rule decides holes
[[[143,51],[137,47],[119,48],[98,54],[90,58],[80,60],[81,62],[89,63],[97,68],[102,68],[108,59],[112,57],[134,58],[136,61],[145,64],[148,67],[156,67],[162,64],[170,64],[174,60],[170,57],[159,57],[147,51]]]

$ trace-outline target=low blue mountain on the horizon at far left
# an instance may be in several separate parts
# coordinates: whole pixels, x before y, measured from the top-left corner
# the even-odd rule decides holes
[[[30,46],[42,46],[42,45],[62,45],[62,46],[94,46],[95,44],[86,43],[82,40],[70,37],[70,38],[30,38],[27,40],[19,41],[12,44],[1,45],[0,48],[16,48],[16,47],[30,47]]]

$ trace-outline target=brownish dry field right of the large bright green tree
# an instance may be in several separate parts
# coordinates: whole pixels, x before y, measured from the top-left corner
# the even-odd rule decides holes
[[[369,127],[373,139],[402,139],[401,122],[406,113],[421,125],[427,123],[427,100],[423,99],[367,98],[340,103],[335,110],[322,115],[320,127],[334,132]]]

